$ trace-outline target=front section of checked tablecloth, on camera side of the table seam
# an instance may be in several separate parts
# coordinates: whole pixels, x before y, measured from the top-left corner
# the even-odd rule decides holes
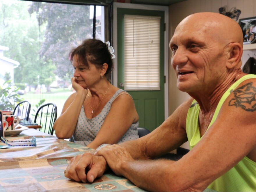
[[[0,191],[143,191],[112,173],[93,183],[75,182],[64,176],[70,158],[0,162]]]

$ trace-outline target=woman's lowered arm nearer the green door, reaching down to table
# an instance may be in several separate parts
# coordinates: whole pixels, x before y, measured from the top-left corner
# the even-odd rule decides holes
[[[128,94],[119,95],[113,101],[96,138],[87,146],[96,149],[103,143],[117,143],[131,127],[131,124],[137,121],[138,113],[132,97]]]

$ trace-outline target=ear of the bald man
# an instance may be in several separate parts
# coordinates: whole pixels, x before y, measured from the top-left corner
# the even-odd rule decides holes
[[[228,69],[231,69],[231,68],[237,68],[238,65],[241,65],[242,54],[243,54],[243,48],[241,44],[231,43],[229,45],[226,67]]]

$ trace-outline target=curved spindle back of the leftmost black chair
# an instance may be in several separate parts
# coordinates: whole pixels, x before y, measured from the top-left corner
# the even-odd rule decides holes
[[[19,102],[14,108],[13,115],[29,120],[30,108],[31,104],[28,101]]]

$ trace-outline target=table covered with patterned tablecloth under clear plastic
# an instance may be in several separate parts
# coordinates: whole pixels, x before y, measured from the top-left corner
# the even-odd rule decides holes
[[[64,176],[70,159],[95,150],[58,139],[36,129],[27,129],[8,140],[36,137],[36,147],[0,150],[0,191],[144,191],[124,177],[107,173],[93,183],[75,182]],[[4,143],[0,143],[4,145]]]

